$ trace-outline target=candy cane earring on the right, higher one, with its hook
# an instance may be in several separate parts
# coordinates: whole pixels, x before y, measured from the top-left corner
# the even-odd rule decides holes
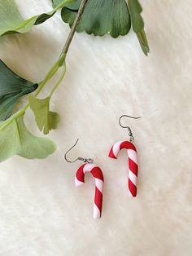
[[[123,115],[119,119],[119,124],[122,128],[127,128],[129,130],[129,141],[119,141],[113,145],[111,148],[111,151],[109,152],[109,157],[111,158],[117,158],[118,153],[122,148],[126,148],[128,152],[128,158],[129,158],[129,177],[128,177],[128,188],[129,188],[129,196],[137,196],[137,150],[135,146],[133,145],[134,137],[132,130],[129,126],[122,126],[121,125],[121,118],[122,117],[130,117],[127,115]],[[138,119],[141,117],[130,117],[133,119]]]

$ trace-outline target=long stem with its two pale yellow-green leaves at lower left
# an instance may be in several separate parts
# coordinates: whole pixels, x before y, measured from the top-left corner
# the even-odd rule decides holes
[[[24,108],[20,109],[17,113],[12,115],[6,121],[3,121],[0,126],[0,161],[6,160],[8,157],[12,157],[17,154],[21,157],[28,159],[31,158],[45,158],[55,151],[55,143],[50,139],[39,138],[32,135],[24,125],[24,113],[30,106],[36,117],[37,126],[40,130],[44,131],[44,134],[48,134],[49,130],[55,129],[59,122],[59,115],[57,113],[50,112],[50,99],[55,90],[62,82],[66,71],[65,59],[68,53],[68,48],[74,37],[76,26],[81,19],[81,14],[84,11],[84,7],[87,0],[82,0],[81,8],[79,9],[76,20],[72,26],[71,32],[68,35],[68,39],[63,47],[63,51],[59,56],[59,60],[55,62],[50,71],[46,74],[45,79],[39,83],[38,89],[35,95],[28,96],[28,104]],[[37,95],[46,86],[46,83],[51,77],[55,76],[59,68],[62,68],[62,74],[56,82],[55,87],[50,92],[50,96],[46,99],[37,99]],[[8,68],[11,72],[11,70]],[[12,73],[15,78],[15,74]],[[16,76],[17,77],[17,76]],[[23,79],[19,77],[20,79]],[[42,118],[43,117],[43,118]],[[11,135],[11,136],[10,136]],[[6,145],[6,146],[5,146]]]

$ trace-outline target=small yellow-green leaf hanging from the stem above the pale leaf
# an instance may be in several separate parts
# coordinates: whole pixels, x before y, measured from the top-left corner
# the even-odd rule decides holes
[[[50,97],[37,99],[33,95],[28,96],[30,108],[33,110],[39,130],[47,135],[50,130],[56,129],[59,124],[59,114],[50,112]]]

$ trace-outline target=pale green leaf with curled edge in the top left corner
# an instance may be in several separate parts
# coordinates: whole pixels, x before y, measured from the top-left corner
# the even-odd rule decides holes
[[[59,8],[70,2],[74,2],[74,0],[60,1],[59,6],[55,7],[54,10],[24,20],[14,0],[0,0],[0,36],[7,33],[27,33],[33,25],[41,24],[50,19]]]

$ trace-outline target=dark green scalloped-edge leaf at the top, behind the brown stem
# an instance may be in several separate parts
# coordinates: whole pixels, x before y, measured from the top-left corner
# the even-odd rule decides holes
[[[81,0],[77,0],[76,3],[63,7],[61,11],[63,21],[70,27],[75,20],[80,3]],[[117,38],[129,33],[130,26],[130,15],[125,0],[89,0],[76,31],[85,30],[86,33],[93,33],[95,36],[109,33],[112,38]]]

